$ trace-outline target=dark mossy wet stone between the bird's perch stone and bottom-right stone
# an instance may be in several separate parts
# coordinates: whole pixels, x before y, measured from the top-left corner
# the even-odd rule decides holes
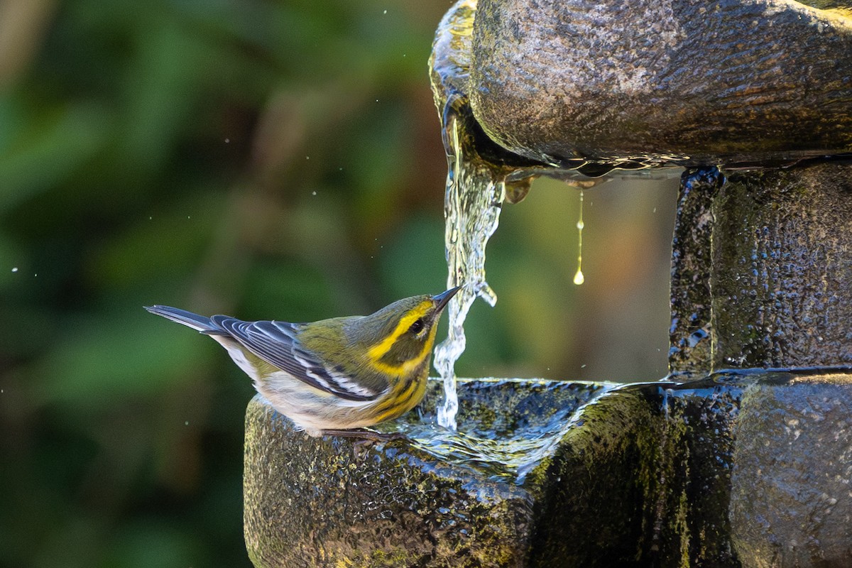
[[[531,566],[738,566],[728,491],[740,382],[625,385],[550,466]]]

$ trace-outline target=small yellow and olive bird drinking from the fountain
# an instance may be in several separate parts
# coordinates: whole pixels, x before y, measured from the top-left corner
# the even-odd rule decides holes
[[[298,429],[314,437],[357,436],[353,428],[401,416],[423,399],[438,319],[460,288],[394,301],[368,316],[309,324],[145,309],[222,344],[257,392]]]

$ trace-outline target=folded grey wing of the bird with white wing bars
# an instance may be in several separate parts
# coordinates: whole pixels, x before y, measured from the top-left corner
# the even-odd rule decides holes
[[[226,330],[251,353],[285,370],[296,379],[342,399],[374,400],[381,392],[360,385],[332,364],[325,364],[298,340],[296,324],[279,321],[246,322],[227,316],[210,320]]]

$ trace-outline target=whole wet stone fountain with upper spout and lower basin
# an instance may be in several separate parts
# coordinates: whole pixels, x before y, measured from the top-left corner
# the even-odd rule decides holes
[[[435,383],[384,443],[308,439],[253,399],[255,565],[852,565],[850,14],[456,3],[436,100],[510,201],[536,175],[683,169],[671,374],[461,381],[458,433]]]

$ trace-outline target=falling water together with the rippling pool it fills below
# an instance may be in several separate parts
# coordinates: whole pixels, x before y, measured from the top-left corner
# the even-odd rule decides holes
[[[463,423],[457,429],[459,399],[455,365],[465,348],[464,321],[477,297],[491,306],[497,302],[497,295],[486,280],[488,239],[497,230],[504,203],[521,201],[533,177],[550,175],[556,166],[564,165],[510,155],[488,141],[473,120],[469,100],[462,93],[469,77],[475,8],[476,0],[456,3],[440,23],[433,50],[435,58],[429,61],[447,159],[444,205],[447,287],[462,287],[446,308],[448,336],[435,348],[434,364],[444,387],[443,402],[437,404],[441,397],[432,397],[437,406],[434,416],[422,416],[423,422],[400,424],[400,427],[405,427],[406,435],[430,454],[454,463],[475,463],[477,468],[493,470],[500,477],[520,483],[525,472],[561,439],[566,428],[573,427],[573,410],[608,387],[579,383],[556,386],[535,380],[479,380],[476,384],[488,386],[486,390],[495,389],[489,391],[491,394],[486,399],[498,396],[496,393],[504,389],[519,389],[527,400],[524,404],[529,404],[530,400],[538,400],[537,404],[541,404],[533,412],[534,418],[526,420],[519,418],[523,412],[516,403],[492,400],[498,407],[489,407],[488,412],[514,424],[495,429],[477,426],[476,412],[469,408],[470,404],[476,404],[477,397],[470,399],[471,383],[465,382],[468,398],[461,401]],[[574,177],[571,172],[563,173],[569,185],[579,188],[597,183],[582,175]],[[581,225],[582,215],[579,231],[582,231]],[[571,393],[571,400],[561,399],[562,395],[557,393]],[[579,393],[585,394],[580,396]]]

